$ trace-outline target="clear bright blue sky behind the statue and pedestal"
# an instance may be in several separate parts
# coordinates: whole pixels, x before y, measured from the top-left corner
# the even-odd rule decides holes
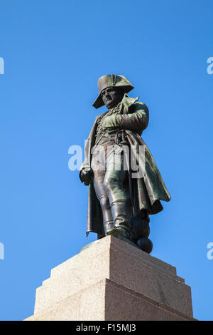
[[[86,239],[87,187],[68,169],[98,113],[97,79],[129,78],[148,105],[143,140],[172,200],[151,217],[152,255],[213,320],[210,0],[0,0],[0,319],[33,314],[35,288]]]

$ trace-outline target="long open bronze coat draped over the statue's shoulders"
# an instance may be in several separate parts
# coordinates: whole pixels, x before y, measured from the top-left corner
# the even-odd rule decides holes
[[[163,178],[160,175],[150,150],[148,150],[146,143],[144,143],[141,138],[143,130],[146,129],[148,125],[148,108],[144,103],[138,102],[138,98],[130,98],[125,94],[119,109],[119,115],[109,115],[108,118],[105,118],[106,129],[119,128],[124,130],[129,145],[143,145],[145,150],[145,170],[143,169],[143,177],[131,179],[133,207],[137,209],[138,213],[147,210],[148,214],[156,214],[163,210],[160,200],[169,201],[170,193],[165,187]],[[98,115],[94,121],[94,125],[92,126],[89,138],[84,147],[84,162],[82,163],[80,172],[84,168],[91,168],[91,149],[95,143],[97,123],[99,118],[102,118],[106,113]],[[138,160],[138,164],[140,164],[140,160]],[[90,182],[87,234],[89,234],[89,232],[102,234],[102,227],[102,208],[94,191],[93,183]]]

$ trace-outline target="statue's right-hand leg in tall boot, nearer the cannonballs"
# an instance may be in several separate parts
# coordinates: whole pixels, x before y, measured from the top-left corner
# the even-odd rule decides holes
[[[124,170],[124,153],[119,146],[107,155],[107,171],[104,177],[104,189],[109,197],[114,229],[107,234],[121,234],[128,238],[131,234],[131,206],[129,192],[124,188],[128,171]],[[112,148],[111,148],[112,149]]]

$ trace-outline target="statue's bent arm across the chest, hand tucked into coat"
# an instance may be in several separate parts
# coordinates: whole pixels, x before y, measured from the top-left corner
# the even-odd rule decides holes
[[[145,103],[134,103],[133,113],[113,114],[104,120],[103,128],[144,130],[148,126],[148,108]]]

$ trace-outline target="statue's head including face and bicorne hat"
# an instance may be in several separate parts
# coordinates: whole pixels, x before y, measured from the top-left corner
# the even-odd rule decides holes
[[[94,107],[106,105],[110,109],[115,107],[124,97],[124,93],[131,91],[133,86],[124,76],[108,74],[99,78],[98,88],[99,96],[93,103]]]

